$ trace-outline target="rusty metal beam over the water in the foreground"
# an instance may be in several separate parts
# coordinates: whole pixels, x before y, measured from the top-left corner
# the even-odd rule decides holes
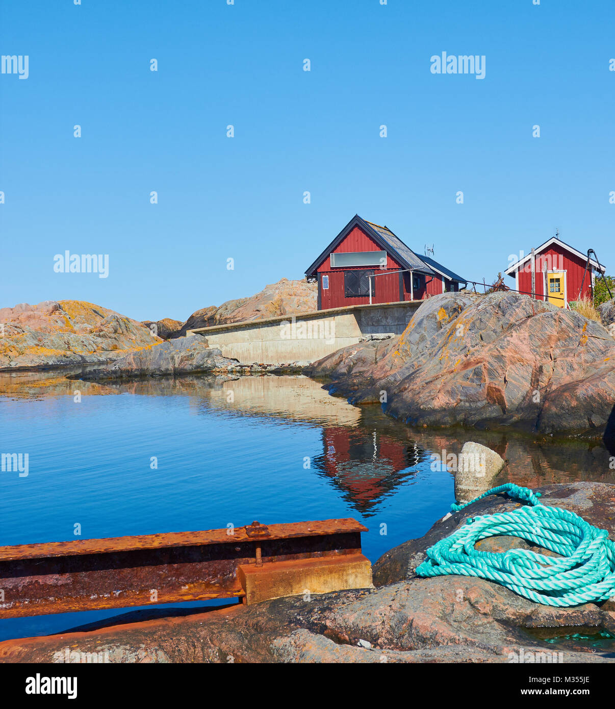
[[[346,518],[0,547],[0,618],[244,597],[239,566],[343,562],[365,531]]]

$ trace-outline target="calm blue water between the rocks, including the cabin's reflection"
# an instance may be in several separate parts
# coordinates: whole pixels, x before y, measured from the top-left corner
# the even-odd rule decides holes
[[[378,408],[293,376],[110,387],[0,375],[0,423],[0,450],[29,457],[28,476],[0,473],[0,545],[353,517],[375,562],[446,514],[453,477],[431,471],[430,448],[463,445],[458,433],[419,445]],[[0,640],[132,610],[2,620]]]

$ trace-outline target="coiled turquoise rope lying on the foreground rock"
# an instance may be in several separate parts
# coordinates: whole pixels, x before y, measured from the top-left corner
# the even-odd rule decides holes
[[[427,559],[417,574],[478,576],[545,605],[595,603],[615,596],[615,545],[609,532],[570,510],[543,505],[538,501],[540,493],[508,483],[451,508],[457,512],[502,492],[531,506],[469,518],[450,537],[427,549]],[[479,540],[498,535],[519,537],[560,556],[547,557],[528,549],[500,554],[475,549]]]

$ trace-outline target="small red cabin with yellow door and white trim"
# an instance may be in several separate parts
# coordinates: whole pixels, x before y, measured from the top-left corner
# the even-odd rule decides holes
[[[521,258],[509,266],[506,273],[515,279],[517,291],[534,293],[539,300],[568,308],[571,301],[592,298],[596,274],[604,274],[604,266],[555,235],[534,249],[534,255],[524,256],[521,252]]]

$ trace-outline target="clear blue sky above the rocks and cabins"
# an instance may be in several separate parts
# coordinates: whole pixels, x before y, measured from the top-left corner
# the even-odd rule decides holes
[[[614,23],[611,0],[0,0],[0,53],[29,57],[0,74],[0,307],[185,320],[303,277],[355,213],[468,279],[555,227],[615,272]],[[443,51],[485,79],[432,74]],[[108,277],[54,272],[66,250]]]

